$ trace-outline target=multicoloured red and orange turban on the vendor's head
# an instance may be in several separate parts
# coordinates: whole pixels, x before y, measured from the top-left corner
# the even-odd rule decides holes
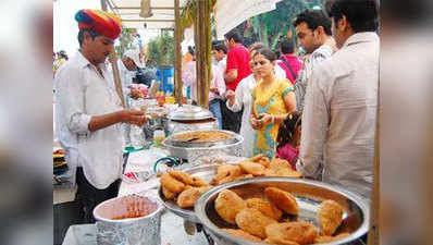
[[[81,10],[75,14],[79,29],[92,29],[111,39],[121,34],[121,20],[112,13],[101,10]]]

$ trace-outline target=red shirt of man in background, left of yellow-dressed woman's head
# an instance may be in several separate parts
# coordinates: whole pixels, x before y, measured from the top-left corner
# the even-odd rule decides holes
[[[236,47],[234,48],[228,49],[227,66],[225,69],[225,73],[233,69],[237,70],[237,77],[232,83],[226,84],[227,90],[236,90],[239,82],[249,76],[249,74],[251,74],[251,70],[249,69],[248,50],[240,44],[236,45]]]

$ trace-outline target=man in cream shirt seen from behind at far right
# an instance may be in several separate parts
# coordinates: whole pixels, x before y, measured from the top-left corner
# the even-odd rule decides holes
[[[375,0],[336,0],[330,11],[339,48],[307,87],[297,170],[371,195],[379,84]]]

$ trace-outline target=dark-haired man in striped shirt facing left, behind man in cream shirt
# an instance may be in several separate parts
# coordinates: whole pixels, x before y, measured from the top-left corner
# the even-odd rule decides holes
[[[331,21],[322,11],[306,10],[296,16],[293,25],[298,45],[308,54],[295,83],[296,109],[302,111],[308,81],[314,66],[330,58],[336,47],[332,38]]]

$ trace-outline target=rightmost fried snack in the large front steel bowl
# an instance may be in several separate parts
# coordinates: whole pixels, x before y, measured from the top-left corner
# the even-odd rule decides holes
[[[318,219],[321,235],[332,235],[343,221],[343,207],[335,200],[325,200],[319,206]]]

